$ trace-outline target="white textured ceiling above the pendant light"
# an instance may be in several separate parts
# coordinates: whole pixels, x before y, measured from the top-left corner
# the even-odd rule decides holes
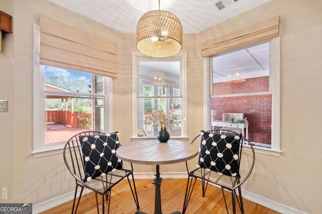
[[[123,33],[135,33],[140,17],[158,10],[157,0],[47,0],[69,11]],[[198,33],[218,23],[265,4],[271,0],[221,0],[226,8],[219,11],[219,0],[160,0],[160,10],[175,14],[183,33]]]

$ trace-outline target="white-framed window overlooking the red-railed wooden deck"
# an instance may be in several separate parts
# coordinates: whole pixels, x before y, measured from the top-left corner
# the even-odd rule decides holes
[[[112,79],[39,65],[39,26],[34,26],[34,157],[61,153],[72,135],[108,132]],[[109,111],[108,111],[109,109]]]

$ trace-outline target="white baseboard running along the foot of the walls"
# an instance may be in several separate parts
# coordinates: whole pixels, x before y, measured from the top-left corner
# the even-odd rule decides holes
[[[161,174],[162,178],[188,178],[186,172],[166,172]],[[135,179],[153,179],[154,178],[154,173],[134,173],[134,178]],[[78,189],[79,190],[79,189]],[[91,192],[88,189],[84,189],[83,194]],[[262,197],[260,195],[254,194],[249,191],[241,190],[243,193],[243,197],[251,200],[255,203],[261,204],[263,206],[266,206],[270,209],[273,209],[275,211],[281,212],[283,214],[306,214],[305,212],[301,212],[299,210],[296,210],[292,207],[283,205],[281,203],[278,203],[276,201],[267,199],[265,197]],[[79,194],[79,192],[77,193]],[[47,209],[50,209],[54,206],[58,206],[64,202],[67,202],[69,200],[72,200],[74,198],[74,192],[69,192],[66,194],[63,194],[61,196],[52,198],[50,200],[44,201],[39,204],[33,205],[33,213],[37,214],[39,212],[43,212]]]

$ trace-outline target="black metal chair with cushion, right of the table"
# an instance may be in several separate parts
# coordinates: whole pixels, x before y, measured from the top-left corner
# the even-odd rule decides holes
[[[202,196],[205,196],[208,183],[218,185],[221,187],[227,213],[229,212],[223,191],[224,189],[231,192],[233,213],[236,213],[235,199],[237,199],[241,213],[244,213],[240,185],[249,178],[255,164],[255,151],[253,145],[241,134],[225,129],[201,131],[201,133],[193,139],[192,143],[197,141],[197,139],[200,139],[197,168],[189,170],[189,163],[186,161],[188,181],[182,213],[184,214],[187,210],[197,179],[202,181]],[[246,147],[247,149],[245,149]],[[250,152],[245,150],[249,150]],[[245,165],[248,165],[247,169],[243,168],[243,172],[245,172],[243,176],[241,173],[239,174],[242,152],[248,152],[247,154],[244,154],[246,157],[243,158],[243,160],[245,159],[247,161],[247,164]],[[239,199],[237,195],[239,195]]]

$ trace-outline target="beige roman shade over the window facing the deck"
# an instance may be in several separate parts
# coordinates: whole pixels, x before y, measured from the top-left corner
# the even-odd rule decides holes
[[[117,44],[40,15],[40,64],[117,77]]]

